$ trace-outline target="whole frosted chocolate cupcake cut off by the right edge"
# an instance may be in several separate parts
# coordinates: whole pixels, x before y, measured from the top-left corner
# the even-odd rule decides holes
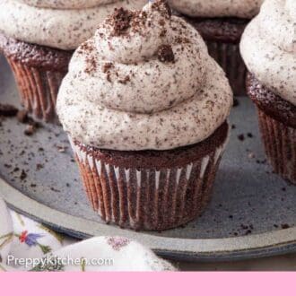
[[[296,2],[266,0],[241,43],[267,159],[296,184]]]

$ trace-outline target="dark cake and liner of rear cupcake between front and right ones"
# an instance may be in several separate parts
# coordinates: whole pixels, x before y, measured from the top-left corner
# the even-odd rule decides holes
[[[247,68],[239,53],[239,41],[249,20],[237,18],[201,19],[184,17],[205,39],[209,54],[230,80],[235,95],[246,95]]]

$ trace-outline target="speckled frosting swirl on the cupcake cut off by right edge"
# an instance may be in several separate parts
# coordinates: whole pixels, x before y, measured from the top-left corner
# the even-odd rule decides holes
[[[249,72],[296,105],[296,2],[266,0],[245,30],[240,51]]]

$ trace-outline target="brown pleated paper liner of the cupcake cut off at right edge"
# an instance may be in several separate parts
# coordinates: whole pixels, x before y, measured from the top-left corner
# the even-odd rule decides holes
[[[266,156],[274,172],[296,184],[296,129],[257,108]]]

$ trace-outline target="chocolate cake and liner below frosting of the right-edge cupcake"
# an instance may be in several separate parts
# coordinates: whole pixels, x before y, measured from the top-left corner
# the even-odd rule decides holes
[[[247,91],[257,106],[266,156],[274,172],[296,184],[296,107],[247,75]]]

